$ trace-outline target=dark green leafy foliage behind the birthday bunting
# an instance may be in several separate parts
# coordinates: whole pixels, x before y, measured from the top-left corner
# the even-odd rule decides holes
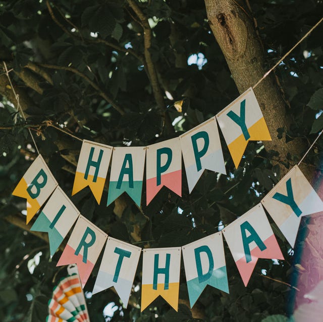
[[[140,17],[130,3],[0,2],[0,57],[13,69],[10,77],[27,116],[25,121],[17,112],[17,102],[2,71],[0,319],[4,322],[44,320],[45,298],[49,299],[53,285],[65,274],[56,268],[61,250],[50,259],[45,242],[5,220],[10,215],[24,219],[20,213],[25,202],[12,197],[11,192],[35,157],[28,127],[50,170],[71,196],[81,143],[51,124],[61,124],[80,139],[144,146],[179,136],[239,95],[210,31],[203,2],[136,2],[151,28],[149,48]],[[322,12],[321,3],[311,0],[257,0],[251,6],[252,12],[247,6],[245,10],[257,21],[268,68],[321,18]],[[276,69],[291,119],[289,128],[277,131],[278,135],[286,131],[290,140],[307,138],[312,142],[313,133],[323,128],[322,116],[318,116],[322,109],[322,31],[318,27]],[[163,107],[158,105],[144,61],[147,52],[160,83]],[[174,104],[182,100],[179,112]],[[182,246],[219,231],[257,204],[280,177],[273,160],[290,167],[299,159],[290,154],[278,156],[275,151],[265,151],[261,142],[252,142],[235,169],[223,138],[222,147],[228,176],[206,171],[189,194],[183,173],[182,198],[163,188],[148,206],[143,196],[141,210],[127,196],[106,208],[106,189],[100,205],[88,189],[71,199],[84,216],[113,237],[141,247]],[[318,141],[307,158],[319,170],[323,168],[321,148],[322,141]],[[290,314],[293,309],[293,301],[288,301],[293,297],[290,287],[277,281],[295,283],[295,265],[300,261],[283,237],[278,241],[286,261],[259,260],[246,288],[225,244],[230,294],[207,287],[192,310],[185,305],[188,294],[182,266],[178,313],[160,298],[140,313],[141,264],[127,309],[112,290],[91,296],[96,267],[85,287],[90,317],[95,321],[193,321],[195,317],[274,321],[274,317],[266,316]],[[39,264],[31,273],[30,261],[39,252]],[[275,281],[264,278],[264,270]],[[103,308],[112,302],[117,311],[104,317]]]

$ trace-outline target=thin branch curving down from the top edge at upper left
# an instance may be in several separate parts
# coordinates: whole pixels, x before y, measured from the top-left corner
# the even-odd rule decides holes
[[[67,28],[65,28],[64,27],[64,25],[62,25],[59,21],[58,21],[58,19],[55,17],[55,15],[54,15],[54,13],[53,13],[53,11],[52,11],[52,9],[51,9],[51,7],[50,7],[50,4],[49,4],[49,2],[48,2],[48,0],[46,1],[46,6],[47,6],[47,9],[48,9],[48,12],[49,12],[49,15],[50,15],[50,17],[51,17],[51,19],[66,33],[66,34],[68,34],[69,36],[71,36],[71,37],[73,37],[73,38],[76,38],[76,39],[78,39],[78,40],[80,40],[80,41],[85,41],[85,42],[88,42],[88,43],[103,43],[103,44],[105,44],[105,45],[107,45],[107,46],[109,46],[109,47],[111,47],[111,48],[113,48],[113,49],[116,49],[116,50],[118,50],[118,51],[122,51],[122,52],[125,52],[126,54],[127,53],[130,53],[130,54],[132,54],[134,57],[136,57],[141,63],[144,63],[144,58],[143,58],[143,56],[142,55],[140,55],[140,54],[138,54],[137,52],[135,52],[133,49],[131,49],[131,48],[128,48],[128,49],[126,49],[126,48],[123,48],[123,47],[120,47],[120,46],[118,46],[118,45],[116,45],[116,44],[114,44],[114,43],[112,43],[112,42],[110,42],[110,41],[106,41],[106,40],[104,40],[104,39],[101,39],[101,38],[94,38],[94,39],[85,39],[82,35],[81,35],[81,33],[80,33],[80,28],[77,28],[74,24],[72,24],[70,21],[68,21],[68,23],[69,24],[72,24],[73,26],[74,26],[74,28],[75,29],[77,29],[78,31],[79,31],[79,35],[78,34],[75,34],[75,33],[73,33],[73,32],[71,32],[71,31],[69,31]],[[60,10],[57,8],[57,7],[55,7],[57,10],[58,10],[58,12],[63,16],[63,14],[60,12]],[[64,17],[64,19],[65,19],[65,17]],[[67,20],[67,19],[65,19],[65,20]]]

